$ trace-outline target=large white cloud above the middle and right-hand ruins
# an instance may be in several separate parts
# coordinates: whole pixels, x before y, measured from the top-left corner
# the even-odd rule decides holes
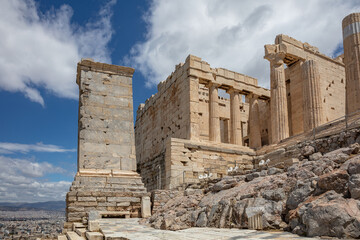
[[[188,54],[213,67],[224,67],[269,86],[264,45],[283,33],[319,47],[332,56],[342,44],[342,19],[360,10],[353,0],[154,0],[145,15],[146,40],[124,59],[152,86]]]

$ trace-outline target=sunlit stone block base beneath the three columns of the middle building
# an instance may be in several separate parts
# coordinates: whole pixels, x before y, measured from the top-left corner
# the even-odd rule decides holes
[[[252,169],[254,156],[252,149],[233,144],[168,139],[163,188],[173,189],[183,183],[199,182],[199,176],[204,174],[222,177],[228,174],[229,167]]]

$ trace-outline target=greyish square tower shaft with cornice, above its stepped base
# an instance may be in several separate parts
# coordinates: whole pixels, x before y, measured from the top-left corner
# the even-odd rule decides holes
[[[78,169],[136,170],[134,69],[83,60],[78,66]]]

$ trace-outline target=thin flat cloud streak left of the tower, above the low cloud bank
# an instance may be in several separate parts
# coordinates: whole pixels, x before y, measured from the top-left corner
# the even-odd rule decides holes
[[[0,142],[1,154],[12,154],[16,152],[28,153],[28,152],[75,152],[76,149],[64,149],[60,146],[52,144],[21,144],[21,143],[7,143]]]

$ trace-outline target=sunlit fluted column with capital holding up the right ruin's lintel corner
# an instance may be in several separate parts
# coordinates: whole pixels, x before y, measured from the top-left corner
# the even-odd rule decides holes
[[[285,85],[284,57],[282,53],[267,56],[270,61],[271,139],[278,143],[289,137],[289,121]]]

